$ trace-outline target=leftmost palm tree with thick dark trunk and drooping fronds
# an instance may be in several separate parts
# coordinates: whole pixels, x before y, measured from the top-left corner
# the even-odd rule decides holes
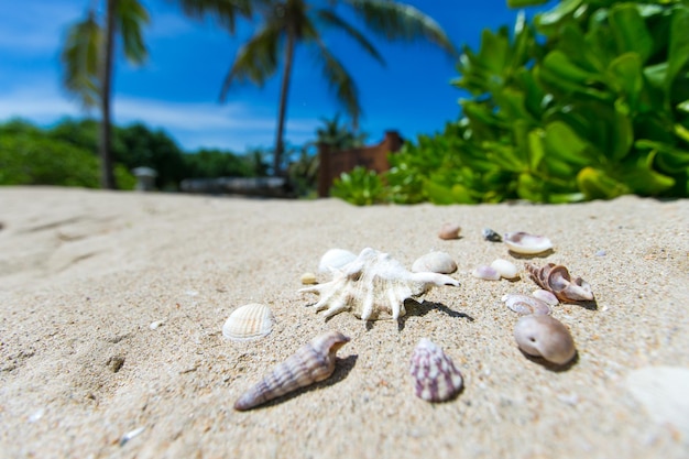
[[[248,17],[251,12],[251,0],[174,1],[192,18],[212,15],[230,33],[234,32],[237,15]],[[142,64],[147,57],[142,30],[150,19],[139,0],[103,2],[102,18],[97,15],[97,0],[94,0],[86,18],[68,29],[61,57],[64,65],[63,83],[67,91],[76,96],[86,109],[100,109],[100,185],[114,189],[117,183],[112,167],[110,101],[116,37],[121,39],[127,59],[132,64]]]

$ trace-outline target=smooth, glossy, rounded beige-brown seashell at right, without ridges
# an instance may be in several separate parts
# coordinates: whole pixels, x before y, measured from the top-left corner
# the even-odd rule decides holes
[[[559,365],[569,362],[577,352],[567,327],[551,316],[521,317],[514,327],[514,339],[525,353]]]

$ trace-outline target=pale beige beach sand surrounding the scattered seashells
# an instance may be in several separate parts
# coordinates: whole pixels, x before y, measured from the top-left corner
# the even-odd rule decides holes
[[[6,187],[0,222],[1,457],[689,455],[689,200],[357,208]],[[446,222],[463,237],[438,239]],[[517,260],[484,241],[484,227],[546,234],[555,250]],[[350,313],[326,321],[306,307],[317,297],[297,292],[302,274],[330,248],[365,247],[407,266],[446,251],[461,286],[408,302],[398,323]],[[496,258],[515,262],[522,280],[471,276]],[[578,349],[564,369],[520,352],[517,316],[500,302],[535,288],[526,261],[562,263],[595,293],[595,308],[554,310]],[[272,334],[223,339],[222,324],[248,303],[272,308]],[[329,380],[262,408],[232,408],[332,329],[351,342]],[[453,401],[413,393],[409,357],[424,337],[464,376]]]

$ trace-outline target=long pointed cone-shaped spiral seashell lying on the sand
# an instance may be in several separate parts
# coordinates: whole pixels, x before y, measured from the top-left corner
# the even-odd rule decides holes
[[[234,403],[234,409],[251,409],[288,392],[328,379],[335,371],[335,354],[347,342],[349,338],[339,331],[317,336],[244,392]]]

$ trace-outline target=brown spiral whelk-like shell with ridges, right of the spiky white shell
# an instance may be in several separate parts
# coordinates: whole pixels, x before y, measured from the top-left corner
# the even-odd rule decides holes
[[[538,286],[567,303],[592,302],[591,285],[581,277],[572,281],[567,267],[548,263],[543,267],[526,264],[526,270]]]

